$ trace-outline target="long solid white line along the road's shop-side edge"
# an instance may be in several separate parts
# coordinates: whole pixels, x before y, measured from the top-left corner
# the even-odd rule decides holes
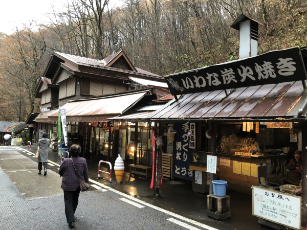
[[[155,205],[152,205],[152,204],[150,204],[150,203],[146,203],[145,201],[142,201],[142,200],[139,200],[139,199],[137,199],[137,198],[131,197],[131,196],[127,195],[127,194],[124,194],[124,193],[119,192],[119,191],[117,191],[117,190],[115,190],[115,189],[112,189],[112,188],[110,188],[110,187],[108,187],[108,186],[105,186],[105,185],[103,185],[102,183],[97,182],[96,180],[89,179],[89,181],[91,181],[92,183],[96,183],[96,185],[99,185],[99,186],[101,186],[101,187],[104,188],[104,189],[108,189],[109,191],[113,191],[113,192],[115,192],[115,193],[117,193],[117,194],[119,194],[119,195],[122,195],[122,196],[124,196],[124,197],[126,197],[126,198],[128,198],[128,199],[131,199],[131,200],[134,200],[134,201],[136,201],[136,202],[139,202],[139,203],[141,203],[141,204],[143,204],[143,205],[146,205],[146,206],[148,206],[148,207],[150,207],[150,208],[152,208],[152,209],[155,209],[155,210],[158,210],[158,211],[163,212],[163,213],[165,213],[165,214],[168,214],[168,215],[170,215],[170,216],[176,217],[177,219],[184,220],[184,221],[186,221],[186,222],[189,222],[189,223],[191,223],[191,224],[194,224],[194,225],[197,225],[197,226],[206,228],[206,229],[208,229],[208,230],[218,230],[217,228],[210,227],[210,226],[208,226],[208,225],[206,225],[206,224],[197,222],[197,221],[195,221],[195,220],[191,220],[191,219],[189,219],[189,218],[180,216],[180,215],[178,215],[178,214],[176,214],[176,213],[172,213],[172,212],[169,212],[169,211],[167,211],[167,210],[161,209],[161,208],[159,208],[159,207],[157,207],[157,206],[155,206]]]

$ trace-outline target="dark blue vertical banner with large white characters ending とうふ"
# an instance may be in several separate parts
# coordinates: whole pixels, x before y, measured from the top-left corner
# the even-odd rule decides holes
[[[194,149],[189,146],[188,123],[175,123],[176,134],[176,151],[174,154],[173,176],[184,180],[192,180],[192,169],[189,169],[193,160]]]

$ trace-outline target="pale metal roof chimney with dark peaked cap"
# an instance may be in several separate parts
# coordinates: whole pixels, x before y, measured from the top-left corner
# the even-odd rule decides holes
[[[231,25],[240,34],[239,59],[257,56],[259,22],[241,14]],[[260,24],[262,25],[262,24]]]

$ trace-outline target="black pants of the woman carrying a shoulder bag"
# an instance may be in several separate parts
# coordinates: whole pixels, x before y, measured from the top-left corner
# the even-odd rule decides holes
[[[79,202],[80,188],[75,191],[64,190],[65,215],[67,222],[75,221],[75,212]]]

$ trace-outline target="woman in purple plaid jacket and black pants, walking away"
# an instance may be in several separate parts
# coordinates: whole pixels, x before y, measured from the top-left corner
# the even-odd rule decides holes
[[[65,158],[60,166],[59,174],[62,176],[61,188],[64,190],[64,203],[65,203],[65,215],[69,227],[75,226],[75,212],[78,206],[78,199],[80,194],[79,179],[76,174],[79,174],[81,180],[89,182],[89,172],[87,171],[86,160],[83,157],[79,157],[81,147],[79,145],[72,145],[69,150],[72,158]],[[73,163],[76,167],[74,169]]]

